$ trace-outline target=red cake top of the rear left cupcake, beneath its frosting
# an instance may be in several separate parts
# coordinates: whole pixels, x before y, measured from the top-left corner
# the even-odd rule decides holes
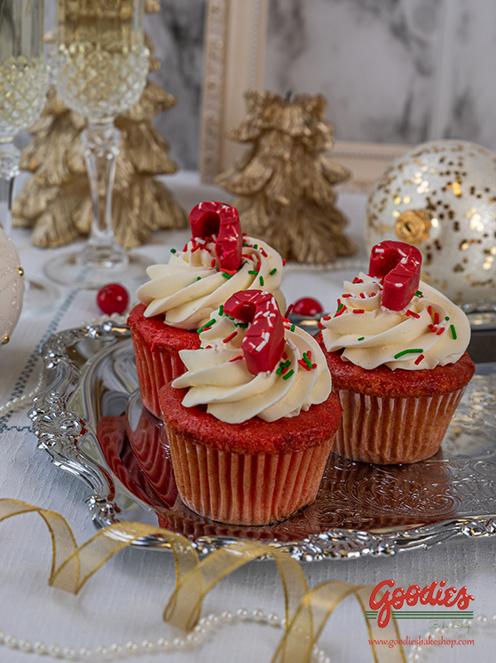
[[[165,347],[168,350],[197,350],[200,338],[195,331],[170,327],[164,323],[165,316],[161,313],[153,318],[145,318],[146,306],[138,304],[130,312],[128,327],[133,335],[141,336],[151,351]]]

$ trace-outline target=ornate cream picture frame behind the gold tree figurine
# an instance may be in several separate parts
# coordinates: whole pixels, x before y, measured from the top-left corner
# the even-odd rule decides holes
[[[245,149],[227,138],[227,130],[246,115],[244,92],[264,87],[268,9],[269,0],[208,2],[200,148],[205,184],[213,183]],[[365,193],[409,147],[336,140],[333,157],[352,173],[339,188]]]

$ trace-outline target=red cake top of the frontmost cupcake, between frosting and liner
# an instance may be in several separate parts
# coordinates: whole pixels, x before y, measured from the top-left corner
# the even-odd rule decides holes
[[[185,407],[185,389],[162,387],[159,399],[163,419],[194,444],[240,454],[286,454],[317,446],[334,436],[341,419],[339,399],[333,393],[320,405],[295,417],[264,422],[259,417],[225,423],[206,406]]]

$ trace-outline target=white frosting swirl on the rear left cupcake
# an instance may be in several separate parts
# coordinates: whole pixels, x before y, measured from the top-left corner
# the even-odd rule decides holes
[[[150,280],[137,292],[141,304],[146,305],[145,317],[165,313],[164,322],[170,327],[197,329],[235,292],[250,289],[271,292],[280,311],[286,310],[279,290],[282,258],[276,250],[245,236],[240,270],[228,274],[217,270],[216,262],[212,266],[217,259],[215,248],[215,241],[196,238],[184,251],[173,253],[169,264],[148,267]]]

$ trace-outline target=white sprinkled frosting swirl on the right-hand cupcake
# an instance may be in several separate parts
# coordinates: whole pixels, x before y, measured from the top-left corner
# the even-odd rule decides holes
[[[341,308],[320,320],[327,351],[344,348],[342,359],[368,370],[383,364],[415,371],[454,364],[467,350],[467,316],[435,288],[421,281],[421,296],[395,312],[381,306],[380,278],[360,273],[359,280],[344,281]]]

